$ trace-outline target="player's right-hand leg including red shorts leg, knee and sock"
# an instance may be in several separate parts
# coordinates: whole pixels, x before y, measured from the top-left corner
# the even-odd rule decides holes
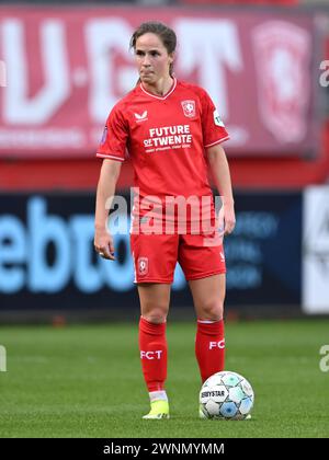
[[[223,245],[201,234],[181,237],[179,262],[189,280],[197,317],[195,355],[202,381],[223,370],[225,256]]]

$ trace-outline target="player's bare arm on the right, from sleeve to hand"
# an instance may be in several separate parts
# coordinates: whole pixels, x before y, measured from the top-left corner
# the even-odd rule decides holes
[[[232,196],[229,166],[226,153],[220,143],[207,148],[209,166],[215,185],[223,200],[219,220],[224,218],[225,234],[231,233],[236,225],[235,202]]]

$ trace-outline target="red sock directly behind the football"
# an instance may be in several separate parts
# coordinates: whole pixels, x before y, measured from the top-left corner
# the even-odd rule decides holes
[[[215,322],[197,320],[195,355],[203,382],[213,373],[224,369],[225,338],[223,320]]]

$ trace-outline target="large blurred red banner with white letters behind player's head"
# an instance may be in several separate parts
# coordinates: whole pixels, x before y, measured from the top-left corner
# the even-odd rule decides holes
[[[110,110],[137,81],[132,33],[155,18],[177,32],[178,78],[213,97],[229,154],[315,152],[324,37],[313,12],[7,7],[0,157],[92,156]]]

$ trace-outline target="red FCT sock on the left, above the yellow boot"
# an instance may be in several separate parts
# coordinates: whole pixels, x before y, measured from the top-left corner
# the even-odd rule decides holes
[[[148,391],[164,389],[167,378],[166,323],[139,321],[140,363]]]

